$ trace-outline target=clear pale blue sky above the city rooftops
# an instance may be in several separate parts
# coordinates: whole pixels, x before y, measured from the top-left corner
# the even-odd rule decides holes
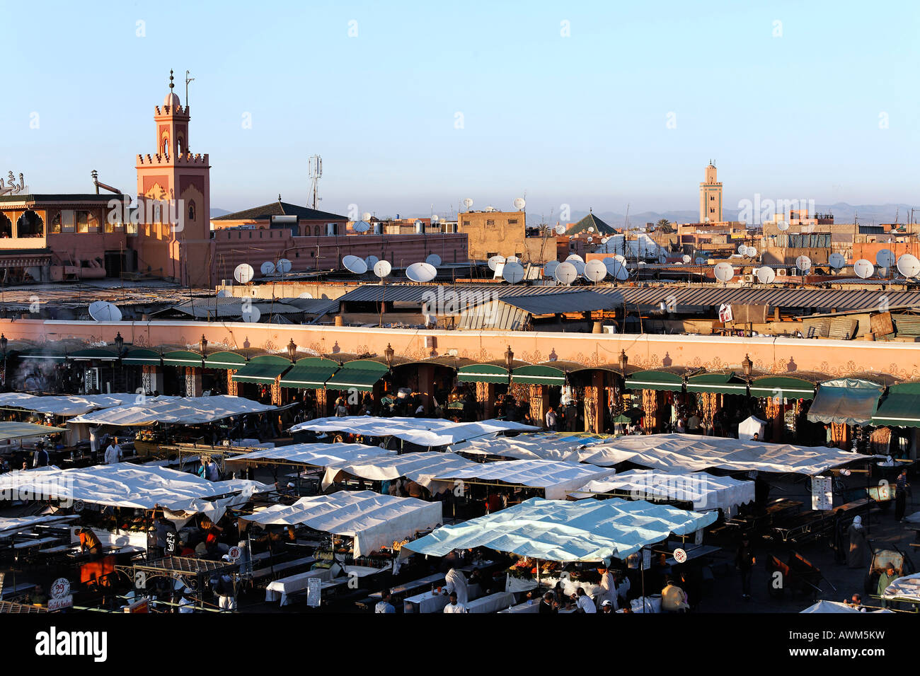
[[[343,214],[696,210],[710,159],[727,206],[915,201],[914,0],[20,8],[0,1],[0,176],[35,193],[92,169],[136,192],[172,68],[231,211],[305,204],[310,155]]]

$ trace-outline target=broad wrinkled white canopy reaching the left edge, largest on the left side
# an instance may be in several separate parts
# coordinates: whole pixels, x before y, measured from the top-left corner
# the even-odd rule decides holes
[[[0,491],[33,498],[91,502],[113,507],[173,511],[197,510],[204,498],[254,492],[271,487],[258,481],[208,481],[166,467],[136,464],[97,464],[75,469],[9,472],[0,475]],[[198,510],[201,511],[201,510]]]

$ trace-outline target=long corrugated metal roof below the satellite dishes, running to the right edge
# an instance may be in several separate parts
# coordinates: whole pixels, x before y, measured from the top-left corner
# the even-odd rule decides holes
[[[592,286],[574,287],[603,293],[614,299],[614,304],[635,307],[656,307],[670,296],[678,309],[685,307],[710,307],[719,304],[768,305],[770,307],[790,309],[859,310],[877,307],[881,295],[888,298],[892,306],[909,305],[920,307],[920,291],[872,291],[866,289],[795,289],[782,287],[738,287],[719,286],[717,284],[684,286]],[[365,284],[339,298],[339,303],[396,302],[421,304],[428,296],[425,294],[489,292],[495,298],[534,296],[570,292],[572,287],[562,286],[511,286],[508,284],[466,284],[434,285],[413,284],[399,285]]]

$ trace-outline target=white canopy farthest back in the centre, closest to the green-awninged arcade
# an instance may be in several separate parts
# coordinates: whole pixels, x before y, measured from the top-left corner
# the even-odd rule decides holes
[[[495,436],[504,431],[533,431],[532,425],[510,420],[454,422],[443,418],[374,418],[373,416],[344,416],[316,418],[291,428],[292,432],[348,432],[367,437],[396,437],[429,448],[447,446],[467,439]]]

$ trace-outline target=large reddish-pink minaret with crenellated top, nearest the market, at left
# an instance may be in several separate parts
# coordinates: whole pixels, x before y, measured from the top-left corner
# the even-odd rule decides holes
[[[210,285],[211,166],[208,155],[187,150],[190,109],[182,107],[174,87],[169,71],[169,92],[154,109],[155,152],[137,155],[139,206],[167,201],[144,210],[155,218],[151,223],[142,217],[138,226],[138,268],[183,284]]]

